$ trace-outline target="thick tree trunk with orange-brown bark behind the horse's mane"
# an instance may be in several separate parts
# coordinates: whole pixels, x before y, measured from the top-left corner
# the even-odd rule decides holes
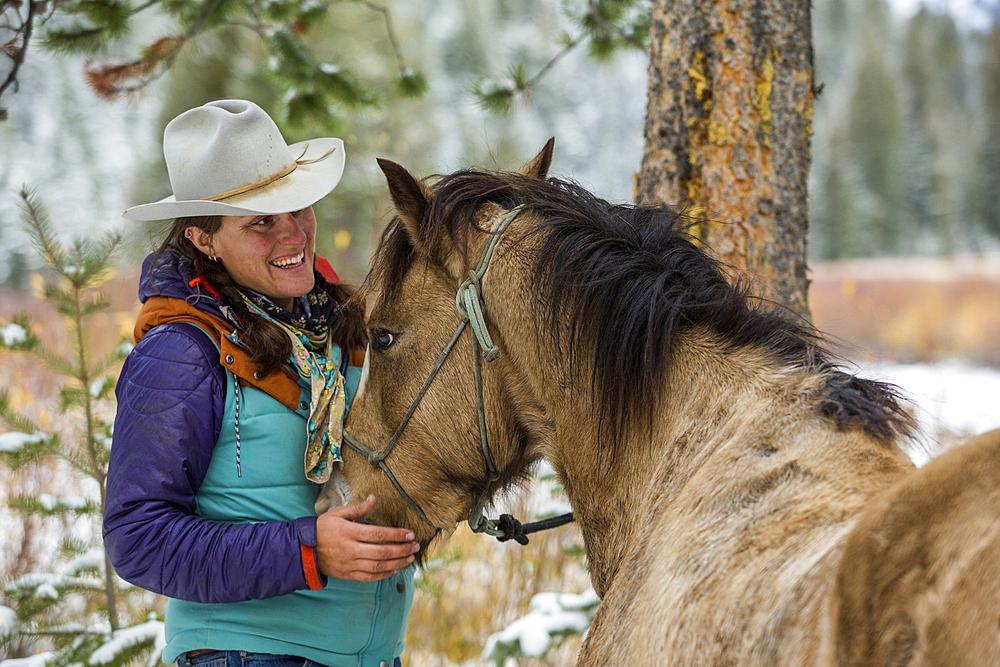
[[[809,0],[656,0],[638,196],[808,317]]]

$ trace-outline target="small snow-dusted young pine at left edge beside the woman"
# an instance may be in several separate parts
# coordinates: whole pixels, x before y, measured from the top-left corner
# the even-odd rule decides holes
[[[16,316],[0,329],[0,345],[32,355],[66,378],[59,410],[78,428],[65,439],[46,433],[12,407],[6,391],[0,392],[0,420],[11,429],[0,435],[0,456],[20,471],[58,461],[72,471],[80,488],[95,490],[92,497],[19,495],[10,498],[9,505],[45,521],[89,520],[94,537],[64,537],[54,571],[22,574],[3,582],[0,646],[17,643],[45,651],[41,655],[44,664],[52,667],[117,667],[139,659],[157,664],[163,624],[151,608],[152,597],[116,577],[100,539],[112,430],[106,416],[111,412],[107,407],[115,385],[110,371],[127,354],[128,346],[93,358],[88,323],[108,308],[100,287],[121,237],[112,233],[97,242],[77,240],[64,246],[34,195],[22,190],[21,199],[32,240],[55,277],[44,287],[45,299],[65,322],[71,353],[64,356],[47,346],[26,316]]]

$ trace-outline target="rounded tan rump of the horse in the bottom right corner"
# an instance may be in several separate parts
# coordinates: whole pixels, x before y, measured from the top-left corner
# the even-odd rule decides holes
[[[845,546],[837,664],[1000,664],[1000,430],[878,496]]]

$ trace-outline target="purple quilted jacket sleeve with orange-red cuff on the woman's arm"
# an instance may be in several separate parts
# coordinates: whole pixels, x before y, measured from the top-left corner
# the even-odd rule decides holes
[[[225,382],[218,351],[194,327],[160,325],[133,349],[115,390],[108,556],[126,581],[191,602],[316,588],[325,583],[314,569],[316,517],[237,524],[194,514],[221,428]]]

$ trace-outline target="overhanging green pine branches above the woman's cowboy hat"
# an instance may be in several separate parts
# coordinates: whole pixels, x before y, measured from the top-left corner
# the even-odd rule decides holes
[[[380,91],[363,77],[339,63],[323,61],[309,48],[307,37],[317,25],[329,20],[331,4],[315,0],[151,0],[134,5],[128,0],[60,2],[15,0],[0,3],[0,19],[10,34],[0,49],[0,59],[11,63],[11,71],[0,81],[0,95],[16,90],[18,70],[23,64],[33,34],[43,49],[93,58],[86,77],[94,91],[106,99],[131,95],[169,71],[178,57],[205,36],[238,28],[254,37],[256,56],[267,59],[285,83],[282,98],[288,118],[329,117],[331,110],[377,106]],[[403,96],[423,93],[423,75],[406,63],[395,43],[388,10],[373,2],[356,3],[385,17],[385,29],[395,47],[397,74],[395,92]],[[128,44],[137,24],[155,17],[158,36],[139,46]],[[164,32],[162,28],[168,26]],[[115,51],[131,52],[114,57]],[[138,51],[136,53],[136,51]],[[7,68],[4,68],[7,69]],[[0,121],[6,111],[0,109]]]

